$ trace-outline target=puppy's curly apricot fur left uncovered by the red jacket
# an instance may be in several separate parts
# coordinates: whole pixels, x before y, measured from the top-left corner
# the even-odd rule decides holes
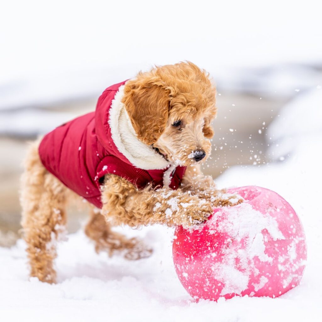
[[[151,186],[138,190],[116,175],[105,177],[101,190],[103,207],[101,211],[91,207],[86,235],[94,241],[98,252],[111,255],[122,251],[126,258],[138,259],[149,256],[151,250],[137,239],[113,232],[111,226],[191,226],[207,220],[214,206],[234,205],[242,200],[217,190],[213,179],[200,171],[200,164],[211,152],[211,121],[216,115],[215,88],[205,71],[193,63],[181,62],[141,72],[126,83],[123,103],[138,139],[153,144],[168,160],[188,166],[177,190]],[[180,125],[174,126],[178,120]],[[45,169],[38,146],[39,141],[31,145],[25,162],[22,225],[31,276],[53,283],[54,242],[66,224],[65,206],[70,200],[81,198],[75,198]],[[195,160],[196,151],[205,152],[202,160]]]

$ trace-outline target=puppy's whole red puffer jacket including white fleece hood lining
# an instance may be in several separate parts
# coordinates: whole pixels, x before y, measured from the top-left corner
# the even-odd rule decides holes
[[[185,167],[170,166],[137,139],[124,105],[120,103],[124,84],[107,88],[99,97],[95,112],[54,129],[45,135],[39,146],[46,169],[99,208],[102,207],[100,185],[106,174],[123,177],[138,188],[149,183],[153,186],[165,183],[177,189],[185,172]],[[130,129],[124,134],[127,128]]]

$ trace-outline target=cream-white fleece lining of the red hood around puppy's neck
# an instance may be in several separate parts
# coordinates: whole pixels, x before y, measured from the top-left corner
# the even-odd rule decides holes
[[[109,110],[109,126],[118,151],[137,168],[165,169],[170,162],[137,138],[126,108],[121,102],[123,94],[124,85],[119,87]]]

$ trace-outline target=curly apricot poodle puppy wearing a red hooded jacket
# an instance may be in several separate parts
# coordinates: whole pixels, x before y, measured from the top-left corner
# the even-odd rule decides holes
[[[216,112],[209,74],[180,62],[110,86],[95,112],[33,142],[20,198],[30,275],[55,283],[54,241],[71,200],[90,207],[85,233],[96,251],[123,251],[128,259],[152,250],[112,226],[187,227],[206,221],[215,206],[236,204],[236,196],[201,172]]]

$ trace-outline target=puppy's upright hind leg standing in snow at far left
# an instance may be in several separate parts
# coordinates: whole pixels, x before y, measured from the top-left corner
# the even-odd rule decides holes
[[[31,147],[22,178],[21,205],[24,239],[31,276],[54,283],[55,240],[65,225],[65,186],[42,165],[38,143]]]

